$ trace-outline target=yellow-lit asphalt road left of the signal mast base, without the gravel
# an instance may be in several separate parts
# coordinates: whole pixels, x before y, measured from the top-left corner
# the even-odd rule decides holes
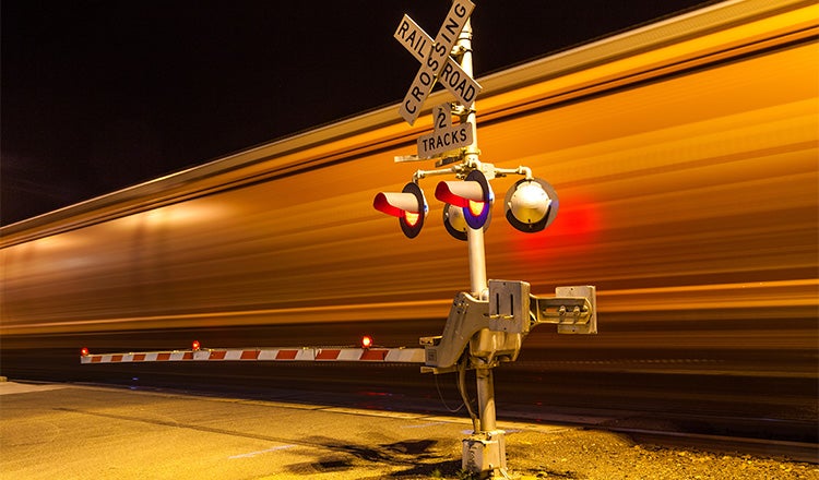
[[[0,383],[0,398],[2,479],[427,477],[460,469],[471,433],[463,418],[75,385]]]

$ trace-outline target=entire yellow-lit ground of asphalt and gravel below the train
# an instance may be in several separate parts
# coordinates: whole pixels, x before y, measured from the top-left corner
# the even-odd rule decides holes
[[[335,397],[273,401],[0,382],[0,479],[464,478],[467,419],[327,401]],[[548,422],[498,425],[520,480],[819,478],[815,464],[663,448]]]

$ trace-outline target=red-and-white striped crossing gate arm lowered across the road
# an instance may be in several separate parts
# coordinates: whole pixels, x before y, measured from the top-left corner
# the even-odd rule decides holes
[[[365,362],[424,363],[423,348],[199,348],[128,353],[91,353],[83,349],[81,364],[183,361]]]

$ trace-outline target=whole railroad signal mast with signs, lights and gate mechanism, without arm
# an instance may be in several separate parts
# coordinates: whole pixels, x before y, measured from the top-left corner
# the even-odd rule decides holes
[[[467,243],[472,291],[455,296],[441,336],[420,339],[426,353],[422,371],[459,373],[459,388],[474,424],[473,434],[463,441],[463,468],[495,478],[506,476],[506,441],[496,423],[492,369],[500,362],[514,361],[523,338],[539,323],[557,323],[559,333],[595,334],[596,295],[591,286],[559,287],[555,298],[537,298],[525,281],[487,281],[484,232],[495,201],[489,182],[508,175],[523,177],[507,192],[503,209],[512,227],[526,233],[548,227],[557,216],[559,202],[555,189],[534,178],[529,167],[505,169],[479,159],[475,96],[482,87],[472,77],[470,22],[474,8],[470,0],[454,0],[435,38],[408,15],[399,24],[394,38],[422,62],[400,115],[412,125],[436,82],[458,101],[434,108],[434,132],[418,139],[417,155],[395,157],[396,163],[436,159],[439,168],[417,170],[401,192],[379,192],[372,205],[397,217],[401,230],[412,239],[420,233],[429,212],[420,180],[432,176],[458,179],[439,182],[435,197],[444,202],[447,231]],[[459,119],[454,125],[453,116]],[[466,395],[467,369],[475,370],[477,415]]]

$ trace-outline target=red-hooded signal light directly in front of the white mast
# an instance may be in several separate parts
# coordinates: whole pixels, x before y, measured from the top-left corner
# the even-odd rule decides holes
[[[466,225],[478,229],[483,228],[489,220],[495,193],[492,193],[486,176],[480,170],[472,170],[463,181],[439,182],[435,189],[435,197],[461,207]],[[450,231],[449,228],[447,230]],[[450,233],[452,235],[452,231]]]

